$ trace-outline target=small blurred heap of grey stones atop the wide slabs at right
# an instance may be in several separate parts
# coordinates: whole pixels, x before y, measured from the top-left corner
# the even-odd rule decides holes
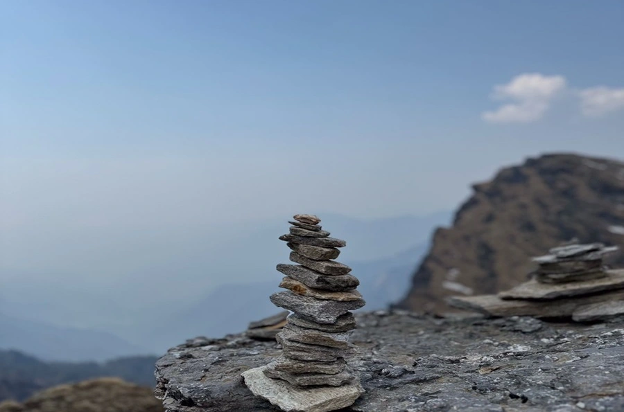
[[[532,259],[539,265],[535,279],[540,283],[568,283],[604,278],[603,256],[616,250],[602,243],[555,247],[548,255]]]

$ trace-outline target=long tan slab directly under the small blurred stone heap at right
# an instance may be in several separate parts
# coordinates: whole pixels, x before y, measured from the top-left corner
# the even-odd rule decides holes
[[[530,280],[508,291],[499,293],[501,299],[550,300],[571,296],[583,296],[596,292],[624,289],[624,270],[612,270],[604,278],[584,282],[545,284]]]

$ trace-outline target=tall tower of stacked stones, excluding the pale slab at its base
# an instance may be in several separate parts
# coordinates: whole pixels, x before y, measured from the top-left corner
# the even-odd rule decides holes
[[[297,265],[277,265],[286,275],[279,287],[287,290],[270,300],[294,313],[277,334],[283,355],[263,372],[300,388],[358,384],[345,355],[352,350],[349,337],[356,328],[350,311],[365,301],[351,268],[333,261],[346,242],[330,238],[316,216],[295,215],[290,223],[290,233],[279,239],[288,242],[290,259]]]

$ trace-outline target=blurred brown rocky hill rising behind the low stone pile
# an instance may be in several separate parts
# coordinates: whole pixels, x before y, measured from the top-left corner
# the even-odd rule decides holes
[[[530,256],[574,238],[624,249],[624,163],[549,154],[473,188],[453,225],[435,231],[397,307],[444,312],[448,296],[511,289],[535,269]],[[624,253],[606,263],[624,267]]]

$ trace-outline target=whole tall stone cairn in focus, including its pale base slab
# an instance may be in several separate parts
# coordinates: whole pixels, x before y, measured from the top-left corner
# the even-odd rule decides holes
[[[290,260],[297,265],[277,265],[286,275],[279,284],[286,291],[270,296],[272,303],[294,312],[277,334],[283,352],[243,378],[254,395],[284,411],[334,411],[363,393],[345,356],[354,349],[349,337],[356,322],[350,311],[365,301],[351,268],[333,261],[346,242],[330,238],[316,216],[295,215],[290,223],[290,233],[279,239],[288,242]]]

